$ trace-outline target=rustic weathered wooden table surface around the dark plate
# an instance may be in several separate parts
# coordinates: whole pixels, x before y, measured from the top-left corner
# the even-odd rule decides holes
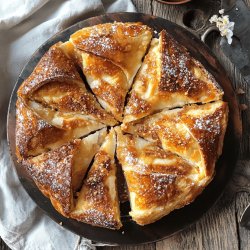
[[[250,6],[250,0],[245,1]],[[133,0],[133,2],[138,12],[166,18],[191,32],[202,32],[209,25],[209,17],[218,13],[221,1],[194,0],[192,3],[178,6],[164,5],[155,0]],[[227,70],[235,91],[239,93],[243,121],[240,158],[223,196],[197,223],[168,239],[135,247],[99,247],[100,249],[250,249],[250,231],[239,225],[240,217],[250,203],[250,87],[232,63],[220,53],[218,41],[218,36],[212,34],[208,37],[207,44]],[[7,249],[9,248],[0,239],[0,250]]]

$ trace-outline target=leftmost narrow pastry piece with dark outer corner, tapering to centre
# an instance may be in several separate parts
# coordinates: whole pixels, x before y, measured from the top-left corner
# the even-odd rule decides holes
[[[78,121],[80,124],[80,121]],[[55,149],[105,127],[93,120],[82,121],[81,126],[69,129],[55,127],[41,119],[19,98],[16,103],[16,155],[19,161]]]

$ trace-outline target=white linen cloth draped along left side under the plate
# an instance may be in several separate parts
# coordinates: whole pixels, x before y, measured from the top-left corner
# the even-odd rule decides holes
[[[0,0],[0,236],[12,249],[94,249],[56,224],[20,184],[6,142],[7,106],[33,52],[70,25],[105,12],[135,11],[130,0]]]

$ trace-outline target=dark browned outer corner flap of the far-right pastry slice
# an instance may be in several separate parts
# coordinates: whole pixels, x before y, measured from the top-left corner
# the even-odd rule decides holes
[[[213,173],[215,162],[222,153],[228,121],[227,103],[218,101],[214,105],[215,108],[213,104],[187,106],[180,114],[182,122],[199,144],[207,175]],[[192,114],[193,109],[198,109],[200,114]]]

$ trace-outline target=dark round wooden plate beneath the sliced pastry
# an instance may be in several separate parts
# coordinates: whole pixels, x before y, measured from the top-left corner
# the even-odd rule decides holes
[[[230,108],[229,123],[225,136],[223,154],[216,164],[215,178],[204,190],[204,192],[190,205],[176,210],[161,220],[147,226],[138,226],[136,223],[131,221],[130,217],[128,216],[128,210],[125,208],[125,210],[122,212],[123,227],[119,231],[93,227],[61,216],[52,207],[50,201],[45,198],[38,190],[34,182],[29,178],[29,176],[27,176],[20,164],[17,163],[15,156],[15,103],[17,100],[17,89],[23,80],[31,74],[39,59],[54,43],[68,40],[69,36],[80,28],[114,21],[141,21],[158,32],[160,32],[162,29],[166,29],[176,38],[177,41],[187,47],[191,54],[214,75],[215,79],[224,89],[224,99],[229,103]],[[63,227],[78,235],[96,242],[121,245],[152,242],[170,236],[182,230],[189,224],[195,222],[216,202],[216,200],[222,194],[222,191],[232,174],[237,160],[241,137],[241,120],[238,103],[236,101],[236,97],[227,73],[219,64],[216,57],[211,53],[209,48],[199,39],[180,26],[162,18],[139,13],[116,13],[93,17],[77,23],[50,38],[34,53],[20,74],[13,90],[9,104],[7,130],[10,151],[17,174],[22,185],[31,198],[37,203],[37,205],[54,221],[57,223],[62,222]]]

